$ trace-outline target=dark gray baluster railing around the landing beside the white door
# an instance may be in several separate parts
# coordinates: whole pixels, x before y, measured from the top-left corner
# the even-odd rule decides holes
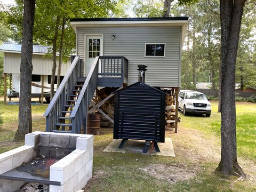
[[[123,56],[100,56],[101,69],[99,75],[103,77],[128,78],[128,59]]]

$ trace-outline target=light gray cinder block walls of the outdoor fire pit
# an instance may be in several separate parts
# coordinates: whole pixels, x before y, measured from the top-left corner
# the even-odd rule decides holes
[[[38,156],[34,146],[76,148],[50,167],[50,181],[61,182],[50,185],[50,192],[77,191],[92,177],[93,135],[33,132],[25,137],[25,146],[0,154],[0,174],[10,171]],[[25,182],[0,179],[0,191],[18,190]]]

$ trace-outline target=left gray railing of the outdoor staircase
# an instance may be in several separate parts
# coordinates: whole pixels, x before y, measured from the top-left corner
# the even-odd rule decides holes
[[[65,105],[66,100],[68,99],[68,94],[72,92],[72,88],[80,75],[80,66],[81,63],[79,57],[76,56],[73,62],[71,63],[71,66],[67,71],[67,74],[61,81],[61,84],[57,89],[56,93],[54,94],[54,97],[52,98],[49,106],[45,110],[43,116],[46,117],[47,132],[58,132],[58,130],[55,130],[55,123],[57,123],[58,117],[61,116],[60,111],[62,110],[62,107]]]

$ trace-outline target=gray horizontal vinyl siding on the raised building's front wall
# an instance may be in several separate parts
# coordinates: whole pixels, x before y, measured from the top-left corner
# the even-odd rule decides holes
[[[147,84],[179,86],[181,26],[78,27],[77,31],[77,54],[81,59],[85,55],[85,34],[102,34],[103,55],[122,55],[129,60],[129,85],[138,81],[137,65],[147,65]],[[165,43],[165,57],[145,57],[145,43]]]

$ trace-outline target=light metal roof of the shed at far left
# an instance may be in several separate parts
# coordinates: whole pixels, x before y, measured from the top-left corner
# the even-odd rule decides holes
[[[43,46],[43,45],[33,45],[33,53],[34,54],[45,54],[49,49],[52,49],[51,46]],[[21,44],[18,43],[3,43],[0,47],[0,51],[2,52],[10,52],[10,53],[21,53]]]

